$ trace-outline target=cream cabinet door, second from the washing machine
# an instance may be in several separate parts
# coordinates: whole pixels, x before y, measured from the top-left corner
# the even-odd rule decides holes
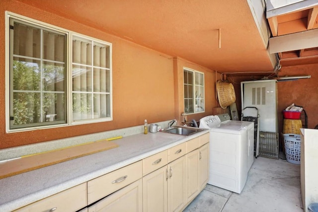
[[[196,149],[186,155],[187,166],[187,202],[192,201],[199,194],[199,150]]]

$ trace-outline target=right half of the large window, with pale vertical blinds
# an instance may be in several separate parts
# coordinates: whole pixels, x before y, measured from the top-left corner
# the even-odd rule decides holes
[[[73,122],[111,118],[110,45],[73,35]]]

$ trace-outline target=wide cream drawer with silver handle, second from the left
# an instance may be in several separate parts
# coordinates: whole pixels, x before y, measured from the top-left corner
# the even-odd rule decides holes
[[[142,161],[87,182],[88,205],[142,178]]]

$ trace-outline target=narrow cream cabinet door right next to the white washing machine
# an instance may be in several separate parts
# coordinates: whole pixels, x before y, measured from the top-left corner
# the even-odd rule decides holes
[[[209,179],[209,143],[199,149],[199,189],[204,189]]]

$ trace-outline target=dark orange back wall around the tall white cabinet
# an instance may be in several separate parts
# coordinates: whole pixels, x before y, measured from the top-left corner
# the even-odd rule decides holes
[[[318,124],[318,64],[282,67],[278,76],[311,75],[310,79],[299,79],[277,83],[278,92],[278,126],[279,132],[283,130],[282,111],[291,104],[303,106],[308,116],[308,128],[314,128]],[[240,112],[240,82],[251,81],[249,77],[228,77],[234,84],[237,95],[237,106]],[[239,113],[240,114],[240,113]]]

